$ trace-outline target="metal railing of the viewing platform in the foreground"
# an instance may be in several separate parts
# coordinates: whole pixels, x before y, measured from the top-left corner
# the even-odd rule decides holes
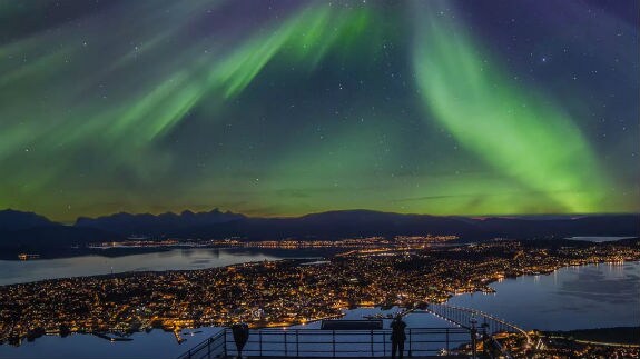
[[[243,349],[248,357],[385,357],[391,355],[391,329],[322,330],[254,329]],[[455,353],[471,342],[465,328],[407,328],[404,352],[407,356]],[[221,329],[178,359],[213,359],[237,356],[233,333]]]

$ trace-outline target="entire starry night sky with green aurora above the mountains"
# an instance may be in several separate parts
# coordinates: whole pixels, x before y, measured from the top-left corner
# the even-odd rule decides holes
[[[0,0],[0,208],[639,211],[639,13]]]

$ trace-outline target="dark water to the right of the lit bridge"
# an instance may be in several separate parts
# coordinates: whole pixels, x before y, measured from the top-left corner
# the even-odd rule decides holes
[[[492,287],[495,295],[461,295],[449,302],[493,313],[525,329],[640,326],[640,262],[568,267]]]

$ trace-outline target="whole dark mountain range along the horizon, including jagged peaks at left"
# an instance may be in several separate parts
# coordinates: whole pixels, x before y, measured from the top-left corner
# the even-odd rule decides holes
[[[293,218],[250,218],[217,209],[161,215],[79,218],[73,226],[13,210],[0,211],[0,248],[60,247],[138,236],[159,238],[341,239],[365,236],[456,235],[462,240],[640,235],[640,215],[435,217],[343,210]]]

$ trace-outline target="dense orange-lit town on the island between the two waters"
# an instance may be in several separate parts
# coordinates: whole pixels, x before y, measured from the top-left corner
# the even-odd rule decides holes
[[[412,242],[412,239],[405,239]],[[362,306],[423,306],[492,291],[505,277],[591,262],[639,260],[631,245],[548,247],[494,240],[365,248],[326,261],[279,260],[190,271],[128,272],[0,287],[0,342],[46,333],[289,326]]]

